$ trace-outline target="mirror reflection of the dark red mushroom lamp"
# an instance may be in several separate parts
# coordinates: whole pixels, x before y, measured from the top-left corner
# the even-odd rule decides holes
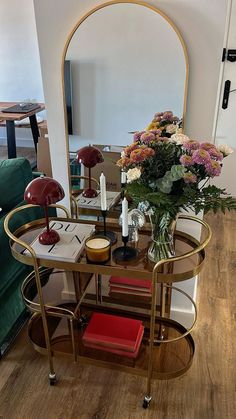
[[[97,196],[97,191],[91,187],[91,168],[104,161],[103,155],[98,148],[89,145],[77,152],[76,159],[78,163],[83,163],[89,169],[89,187],[83,191],[83,196],[94,198]]]

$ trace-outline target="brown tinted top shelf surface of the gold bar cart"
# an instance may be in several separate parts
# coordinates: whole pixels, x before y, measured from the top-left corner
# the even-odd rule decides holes
[[[189,217],[185,215],[180,215],[180,218],[187,220],[195,221],[198,220],[195,217]],[[53,218],[52,218],[53,219]],[[57,221],[64,220],[65,218],[56,218]],[[78,222],[74,219],[67,219],[68,223]],[[85,220],[79,220],[81,223],[88,223]],[[199,220],[200,224],[207,228],[207,224]],[[102,229],[102,223],[97,221],[89,221],[96,225],[96,230],[99,231]],[[44,228],[44,220],[37,220],[26,224],[14,232],[14,236],[19,239],[22,243],[27,243],[30,245],[34,238],[39,234],[40,230]],[[112,251],[116,247],[122,245],[120,227],[117,225],[117,222],[108,223],[107,227],[109,230],[113,230],[117,234],[117,243],[112,246]],[[100,273],[104,275],[117,275],[117,276],[126,276],[126,277],[136,277],[139,279],[151,279],[153,274],[153,269],[155,267],[154,263],[148,261],[147,258],[147,249],[150,244],[150,229],[146,228],[140,231],[139,242],[136,245],[138,249],[138,257],[133,261],[129,262],[117,262],[111,259],[103,265],[90,264],[86,260],[85,252],[82,252],[77,262],[65,262],[63,260],[52,260],[52,259],[38,259],[39,266],[45,266],[49,268],[59,268],[66,269],[73,272],[89,272],[89,273]],[[33,258],[29,255],[23,253],[23,245],[20,245],[17,242],[11,241],[11,248],[13,256],[22,263],[27,265],[34,265]],[[203,242],[204,243],[204,242]],[[181,259],[179,261],[166,263],[164,269],[158,272],[158,282],[179,282],[197,275],[203,266],[205,259],[205,250],[197,239],[190,236],[189,234],[176,230],[174,233],[174,244],[176,256],[186,255],[189,256]],[[191,252],[194,251],[194,254]]]

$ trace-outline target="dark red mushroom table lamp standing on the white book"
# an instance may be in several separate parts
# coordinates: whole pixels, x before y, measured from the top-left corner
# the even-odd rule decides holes
[[[24,199],[28,204],[44,207],[46,230],[39,236],[41,244],[54,244],[60,240],[57,231],[49,228],[48,205],[55,204],[65,196],[62,186],[50,177],[40,176],[32,180],[25,189]]]

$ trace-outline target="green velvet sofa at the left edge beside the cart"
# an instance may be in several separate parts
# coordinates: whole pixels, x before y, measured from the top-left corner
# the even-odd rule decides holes
[[[30,163],[25,158],[0,161],[0,357],[28,316],[20,288],[22,281],[32,270],[30,266],[13,258],[9,238],[4,230],[4,218],[10,210],[26,203],[23,200],[24,191],[33,177]],[[14,231],[26,222],[42,217],[43,211],[40,207],[27,209],[15,214],[10,228]]]

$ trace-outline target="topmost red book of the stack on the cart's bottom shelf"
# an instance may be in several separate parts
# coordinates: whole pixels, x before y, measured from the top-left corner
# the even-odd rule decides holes
[[[83,335],[84,342],[135,351],[142,322],[111,314],[93,313]]]

